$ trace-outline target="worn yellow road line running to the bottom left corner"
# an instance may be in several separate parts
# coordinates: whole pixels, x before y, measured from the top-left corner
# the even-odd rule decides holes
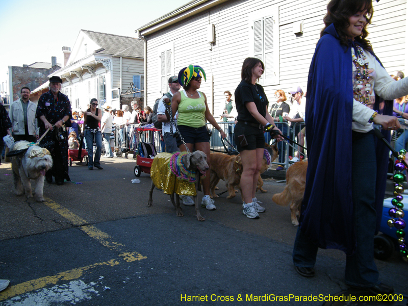
[[[112,259],[108,262],[97,263],[82,268],[72,269],[58,273],[57,275],[40,277],[33,279],[32,281],[24,282],[14,286],[10,286],[6,290],[0,292],[0,301],[12,298],[14,296],[27,293],[33,290],[38,290],[49,285],[56,285],[59,281],[71,281],[72,279],[80,278],[86,271],[99,267],[99,266],[116,266],[119,262],[116,259]]]

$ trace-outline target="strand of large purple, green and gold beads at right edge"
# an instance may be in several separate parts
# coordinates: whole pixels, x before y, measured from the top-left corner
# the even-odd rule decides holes
[[[405,154],[406,154],[405,149],[399,151],[398,161],[395,163],[394,166],[394,169],[396,170],[396,173],[393,176],[395,182],[394,191],[395,198],[391,200],[391,203],[392,205],[394,205],[394,207],[388,211],[388,214],[390,215],[391,219],[388,220],[387,224],[388,226],[395,227],[397,229],[395,235],[398,237],[399,252],[404,261],[408,262],[408,249],[406,247],[404,238],[405,221],[402,219],[405,213],[402,210],[404,208],[404,205],[401,202],[403,199],[403,196],[401,194],[404,192],[402,182],[405,181],[405,175],[402,173],[402,171],[405,169],[405,166],[402,163],[402,161],[405,159]]]

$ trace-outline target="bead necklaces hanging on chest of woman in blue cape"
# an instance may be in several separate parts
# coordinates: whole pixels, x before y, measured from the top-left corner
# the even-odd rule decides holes
[[[370,76],[368,75],[368,60],[360,46],[357,46],[357,54],[352,54],[351,59],[356,69],[354,82],[354,93],[358,96],[361,104],[369,103],[369,93],[371,92]]]

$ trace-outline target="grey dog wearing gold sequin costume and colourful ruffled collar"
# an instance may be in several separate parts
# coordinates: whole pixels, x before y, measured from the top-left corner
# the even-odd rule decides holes
[[[204,221],[205,219],[199,211],[196,188],[199,183],[199,176],[205,175],[208,169],[207,155],[202,151],[158,154],[150,169],[151,187],[148,206],[153,205],[152,196],[156,186],[170,195],[170,200],[176,209],[176,215],[183,217],[180,195],[192,195],[194,196],[197,219]],[[175,201],[174,194],[176,195]]]

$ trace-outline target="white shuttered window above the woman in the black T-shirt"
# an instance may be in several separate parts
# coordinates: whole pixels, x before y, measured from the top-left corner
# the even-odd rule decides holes
[[[278,19],[277,7],[263,9],[262,13],[260,11],[253,12],[249,18],[251,55],[262,60],[265,65],[265,72],[259,80],[262,85],[279,84]]]

